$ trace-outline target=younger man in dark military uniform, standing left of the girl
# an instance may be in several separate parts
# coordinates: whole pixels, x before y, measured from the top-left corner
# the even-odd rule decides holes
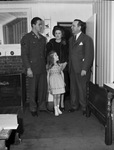
[[[33,18],[31,27],[32,31],[21,40],[21,56],[29,80],[30,111],[33,116],[38,116],[37,106],[40,111],[46,110],[46,38],[40,34],[41,18]]]

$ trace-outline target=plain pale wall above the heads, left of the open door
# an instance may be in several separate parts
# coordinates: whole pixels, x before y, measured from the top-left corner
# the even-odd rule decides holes
[[[75,18],[86,21],[92,15],[92,5],[40,3],[32,7],[32,17],[36,15],[43,19],[51,19],[52,31],[53,26],[57,25],[57,22],[72,22]]]

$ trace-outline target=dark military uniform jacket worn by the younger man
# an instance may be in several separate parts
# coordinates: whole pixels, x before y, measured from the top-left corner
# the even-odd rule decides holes
[[[46,72],[45,62],[46,38],[40,38],[34,32],[27,33],[21,40],[21,56],[25,67],[31,68],[34,74]]]

